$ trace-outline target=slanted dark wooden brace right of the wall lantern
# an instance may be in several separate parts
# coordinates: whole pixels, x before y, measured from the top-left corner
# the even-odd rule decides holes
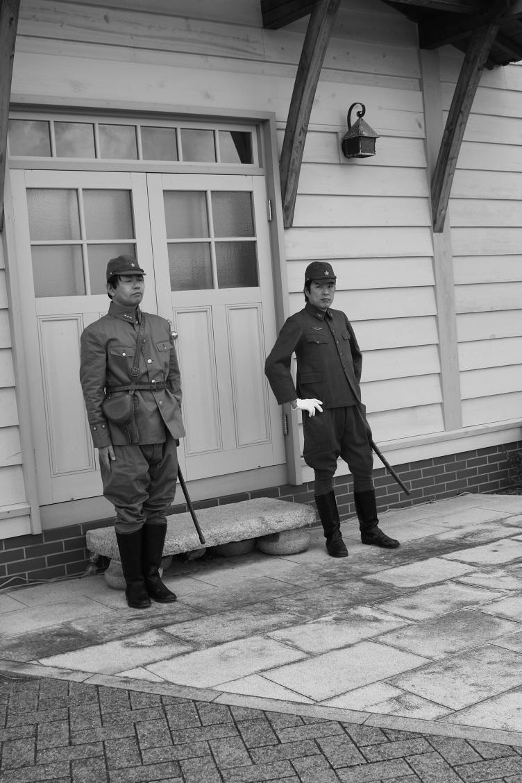
[[[474,31],[464,56],[431,182],[431,214],[435,233],[441,233],[444,229],[449,195],[466,123],[470,117],[482,71],[498,32],[498,21],[491,21]]]

